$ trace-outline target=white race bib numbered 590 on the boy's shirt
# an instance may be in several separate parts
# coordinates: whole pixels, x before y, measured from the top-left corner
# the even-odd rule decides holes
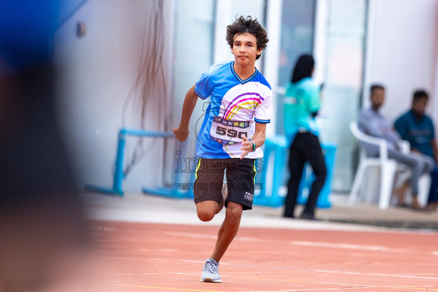
[[[214,116],[210,137],[224,145],[240,143],[243,141],[244,136],[250,138],[249,122],[226,120],[219,116]]]

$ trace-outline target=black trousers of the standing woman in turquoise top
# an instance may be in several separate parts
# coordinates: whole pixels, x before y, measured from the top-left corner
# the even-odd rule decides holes
[[[314,134],[305,132],[298,133],[290,145],[289,171],[290,179],[287,185],[286,205],[284,217],[293,217],[293,210],[297,203],[298,184],[304,169],[304,163],[308,161],[312,166],[315,181],[312,184],[306,208],[303,213],[314,215],[316,200],[325,182],[327,169],[325,167],[324,156],[322,155],[321,145],[318,137]]]

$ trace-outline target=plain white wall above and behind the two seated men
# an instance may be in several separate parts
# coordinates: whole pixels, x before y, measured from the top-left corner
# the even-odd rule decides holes
[[[364,106],[369,85],[386,88],[382,113],[390,123],[410,109],[413,91],[431,95],[427,112],[438,122],[434,96],[437,69],[438,1],[370,0],[364,76]]]

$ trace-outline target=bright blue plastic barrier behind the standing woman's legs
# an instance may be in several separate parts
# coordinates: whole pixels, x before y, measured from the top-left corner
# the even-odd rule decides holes
[[[264,155],[263,155],[263,171],[256,176],[256,181],[262,183],[263,189],[258,193],[254,194],[254,204],[279,207],[284,204],[285,197],[279,196],[279,189],[289,179],[289,171],[287,160],[289,149],[287,148],[287,140],[284,135],[277,135],[274,137],[266,138],[264,144]],[[318,196],[317,207],[318,208],[329,208],[331,206],[329,202],[329,194],[331,193],[331,183],[332,183],[332,173],[334,170],[335,154],[336,154],[336,144],[334,143],[323,143],[321,148],[324,152],[325,164],[327,166],[327,176],[325,179],[324,186]],[[271,156],[274,152],[274,161],[272,162]],[[272,187],[267,186],[267,170],[268,167],[273,167],[272,177]],[[310,189],[311,184],[314,181],[314,175],[311,171],[310,165],[306,165],[303,170],[303,176],[300,180],[300,185],[298,189],[298,204],[305,204],[307,202],[307,197],[303,197],[304,193]],[[269,187],[269,189],[267,189]],[[308,194],[308,193],[307,193]]]

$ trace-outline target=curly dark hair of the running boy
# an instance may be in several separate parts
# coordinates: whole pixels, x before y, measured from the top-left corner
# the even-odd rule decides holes
[[[252,19],[251,16],[244,18],[243,15],[241,15],[239,18],[236,17],[236,21],[234,21],[232,25],[227,25],[226,27],[226,41],[231,48],[234,44],[234,37],[244,33],[250,33],[251,35],[255,36],[257,39],[257,49],[266,48],[266,43],[269,41],[269,39],[265,28],[261,26],[260,22],[257,21],[257,18]],[[260,56],[261,54],[257,55],[255,60],[258,60]]]

